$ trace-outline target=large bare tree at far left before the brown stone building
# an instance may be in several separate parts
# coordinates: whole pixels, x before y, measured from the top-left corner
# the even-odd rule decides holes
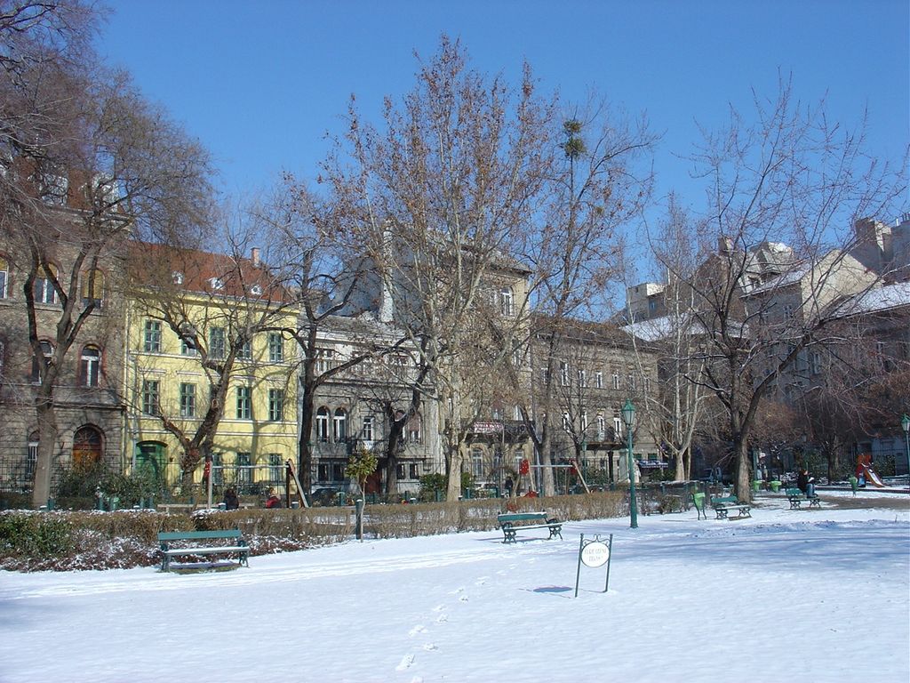
[[[83,49],[86,5],[4,3],[0,14],[0,229],[27,273],[40,433],[33,499],[42,505],[57,441],[56,382],[102,301],[96,289],[116,284],[98,276],[100,265],[122,254],[127,237],[175,239],[204,226],[209,168],[195,140]],[[67,51],[76,46],[79,60]]]

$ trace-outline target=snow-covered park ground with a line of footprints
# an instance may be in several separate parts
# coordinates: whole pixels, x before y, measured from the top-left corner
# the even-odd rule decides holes
[[[350,542],[229,572],[0,572],[0,681],[906,683],[908,496],[860,499],[759,497],[752,519],[693,509],[515,545]],[[613,535],[610,589],[582,566],[575,598],[581,534]]]

